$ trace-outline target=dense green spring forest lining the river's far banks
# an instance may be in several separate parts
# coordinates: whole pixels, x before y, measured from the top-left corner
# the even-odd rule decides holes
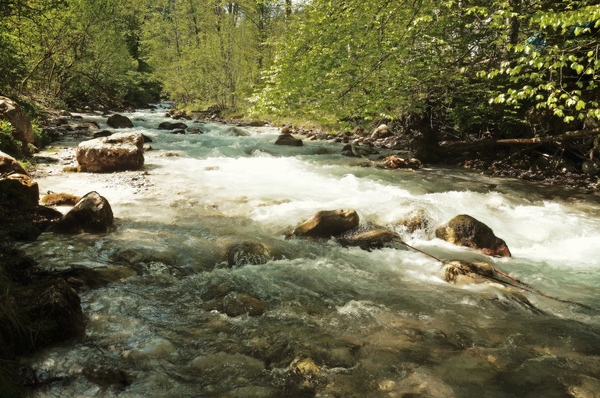
[[[429,141],[552,135],[600,118],[592,1],[0,7],[0,91],[53,108],[163,97],[338,131],[394,121]]]

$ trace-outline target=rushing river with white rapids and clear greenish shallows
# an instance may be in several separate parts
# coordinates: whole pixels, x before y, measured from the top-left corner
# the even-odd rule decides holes
[[[40,191],[97,191],[116,221],[107,234],[44,233],[22,245],[48,269],[113,280],[79,292],[84,340],[22,360],[44,382],[31,396],[600,394],[597,197],[459,170],[356,167],[340,144],[275,145],[269,127],[236,136],[185,121],[206,133],[171,134],[156,129],[162,113],[128,115],[143,121],[124,130],[153,140],[142,170],[61,173],[55,164],[37,179]],[[321,147],[333,154],[318,155]],[[285,239],[332,209],[355,209],[362,225],[391,228],[436,257],[488,262],[589,308],[523,292],[532,307],[499,284],[446,283],[439,262],[401,245],[369,252]],[[410,234],[400,220],[419,209],[431,225]],[[436,239],[434,228],[459,214],[489,225],[513,257]],[[226,246],[248,239],[283,259],[228,268]],[[264,301],[266,312],[211,309],[229,292]],[[318,368],[305,361],[298,370],[306,358]]]

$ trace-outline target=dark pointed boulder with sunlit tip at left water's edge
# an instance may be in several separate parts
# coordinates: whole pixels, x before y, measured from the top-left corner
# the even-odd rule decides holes
[[[106,198],[92,191],[84,195],[49,230],[58,233],[105,233],[113,224],[113,213]]]

